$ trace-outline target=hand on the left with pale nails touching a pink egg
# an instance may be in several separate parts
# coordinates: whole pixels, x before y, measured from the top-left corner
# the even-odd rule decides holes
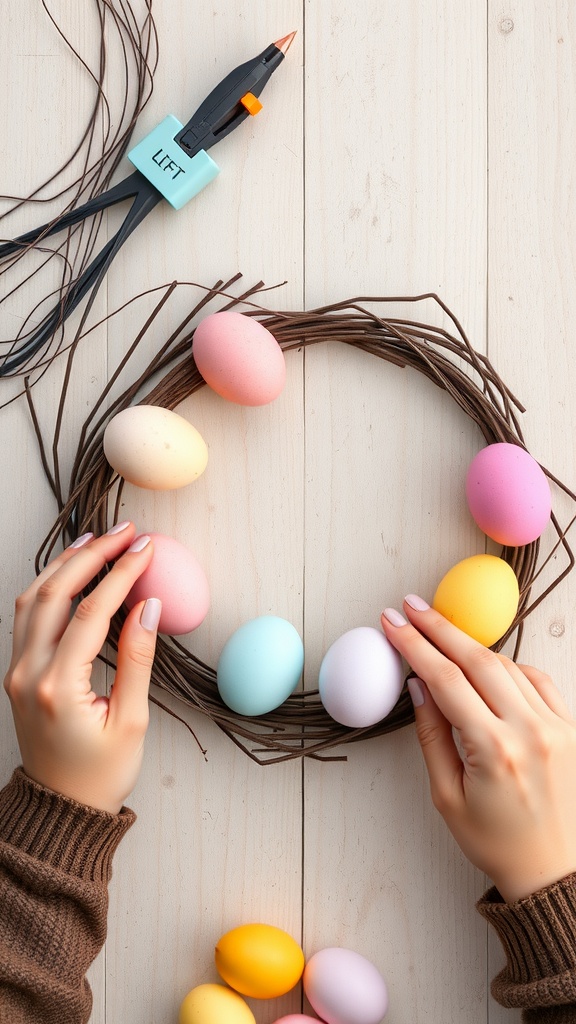
[[[81,539],[16,599],[4,680],[26,773],[113,814],[141,764],[160,601],[140,602],[127,615],[110,697],[93,691],[91,674],[112,616],[153,555],[150,539],[134,542],[134,535],[126,523]],[[74,599],[109,562],[113,567],[72,613]]]

